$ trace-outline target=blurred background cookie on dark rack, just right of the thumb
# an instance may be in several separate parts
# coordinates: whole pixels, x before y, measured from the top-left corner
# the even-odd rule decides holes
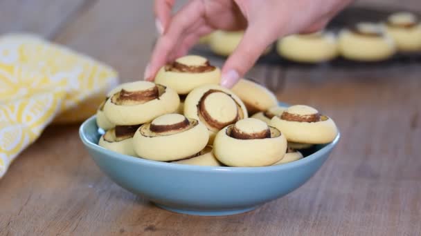
[[[337,38],[332,32],[289,35],[279,39],[278,54],[286,59],[304,63],[330,61],[337,57]]]

